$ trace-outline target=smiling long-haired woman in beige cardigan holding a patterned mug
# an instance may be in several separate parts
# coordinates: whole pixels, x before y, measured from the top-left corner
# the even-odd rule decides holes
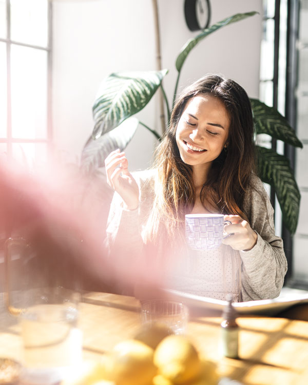
[[[166,285],[191,294],[232,293],[237,301],[279,295],[286,258],[255,173],[251,104],[236,82],[206,75],[184,89],[151,170],[130,174],[120,150],[105,165],[116,191],[107,225],[114,255],[157,259]],[[232,235],[214,251],[189,249],[189,213],[224,214]]]

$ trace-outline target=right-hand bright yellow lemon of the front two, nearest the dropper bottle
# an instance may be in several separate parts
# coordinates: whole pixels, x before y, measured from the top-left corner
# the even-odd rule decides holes
[[[178,385],[197,378],[201,371],[196,348],[189,339],[179,335],[168,336],[159,343],[154,363],[162,376]]]

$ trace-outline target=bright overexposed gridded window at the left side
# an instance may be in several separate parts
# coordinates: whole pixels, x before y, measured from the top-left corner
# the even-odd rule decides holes
[[[51,142],[51,4],[0,0],[0,153],[46,160]]]

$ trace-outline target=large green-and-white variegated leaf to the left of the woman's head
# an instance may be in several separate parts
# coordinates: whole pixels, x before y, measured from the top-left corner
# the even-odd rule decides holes
[[[125,119],[142,110],[151,100],[168,70],[117,72],[101,84],[93,104],[95,121],[92,137],[119,126]]]

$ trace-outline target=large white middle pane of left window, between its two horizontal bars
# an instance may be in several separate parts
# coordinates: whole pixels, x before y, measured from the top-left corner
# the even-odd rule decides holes
[[[12,136],[47,137],[47,52],[12,45]]]

